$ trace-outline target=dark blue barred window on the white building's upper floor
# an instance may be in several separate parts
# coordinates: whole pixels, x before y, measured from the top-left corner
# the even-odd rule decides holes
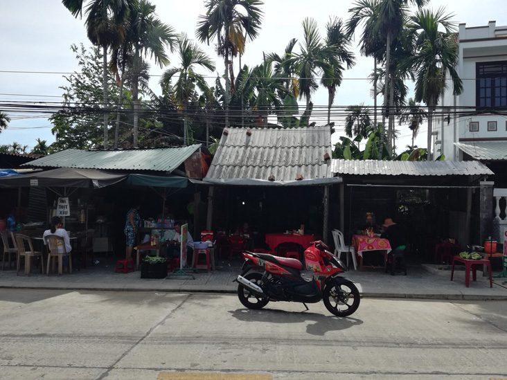
[[[507,107],[507,61],[477,62],[476,107]]]

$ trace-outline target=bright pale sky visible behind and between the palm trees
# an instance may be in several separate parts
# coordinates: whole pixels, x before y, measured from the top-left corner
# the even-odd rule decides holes
[[[157,6],[157,15],[178,33],[186,33],[195,39],[195,29],[199,15],[204,15],[204,0],[151,0]],[[350,0],[264,0],[262,30],[253,42],[248,42],[242,64],[254,66],[263,60],[263,53],[283,53],[291,38],[301,39],[303,28],[301,23],[305,17],[312,17],[319,24],[321,35],[325,33],[325,25],[330,17],[348,19],[348,9],[353,6]],[[445,7],[457,24],[470,26],[486,26],[488,21],[497,21],[497,26],[507,25],[507,12],[504,12],[505,0],[432,0],[429,8]],[[501,12],[499,12],[501,10]],[[90,46],[84,28],[83,19],[75,19],[57,0],[0,0],[0,102],[58,102],[62,101],[60,86],[66,84],[63,73],[78,70],[78,63],[70,49],[71,44],[83,43]],[[356,38],[357,40],[358,38]],[[216,63],[217,71],[222,75],[223,60],[217,57],[213,43],[210,46],[201,44],[202,48]],[[348,106],[364,103],[373,105],[370,96],[371,84],[366,80],[373,70],[373,60],[362,57],[353,42],[353,51],[357,64],[344,73],[344,81],[337,91],[335,106]],[[170,55],[170,65],[178,64],[177,56]],[[160,93],[157,84],[159,75],[168,67],[161,69],[151,65],[150,88]],[[13,72],[17,71],[17,73]],[[214,73],[201,73],[216,78]],[[238,60],[235,60],[235,73],[238,72]],[[409,85],[413,89],[413,85]],[[413,97],[413,92],[409,94]],[[382,104],[382,97],[378,98]],[[304,100],[303,100],[304,102]],[[312,94],[314,105],[327,105],[326,89],[319,89]],[[303,103],[302,103],[303,104]],[[0,109],[0,111],[2,111]],[[8,129],[0,133],[0,145],[8,145],[13,141],[28,145],[27,152],[36,144],[36,139],[46,140],[48,145],[55,141],[51,134],[51,124],[47,116],[10,114],[12,121]],[[326,124],[327,118],[312,118],[317,125]],[[336,133],[332,135],[332,143],[344,136],[342,119],[335,123]],[[411,132],[407,126],[397,126],[400,130],[398,147],[411,144]],[[416,138],[416,145],[426,146],[426,127],[423,125]]]

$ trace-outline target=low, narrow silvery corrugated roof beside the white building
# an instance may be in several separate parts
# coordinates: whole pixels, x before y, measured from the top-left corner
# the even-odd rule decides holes
[[[479,161],[332,160],[334,175],[448,176],[493,174]]]

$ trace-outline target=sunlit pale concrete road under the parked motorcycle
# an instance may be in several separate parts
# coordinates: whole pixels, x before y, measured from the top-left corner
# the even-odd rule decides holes
[[[0,289],[1,379],[507,378],[505,301],[244,309],[231,294]]]

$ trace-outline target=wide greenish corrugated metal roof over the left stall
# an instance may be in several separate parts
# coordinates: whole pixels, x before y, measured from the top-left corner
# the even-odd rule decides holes
[[[24,166],[172,172],[201,145],[140,150],[75,150],[57,152]]]

